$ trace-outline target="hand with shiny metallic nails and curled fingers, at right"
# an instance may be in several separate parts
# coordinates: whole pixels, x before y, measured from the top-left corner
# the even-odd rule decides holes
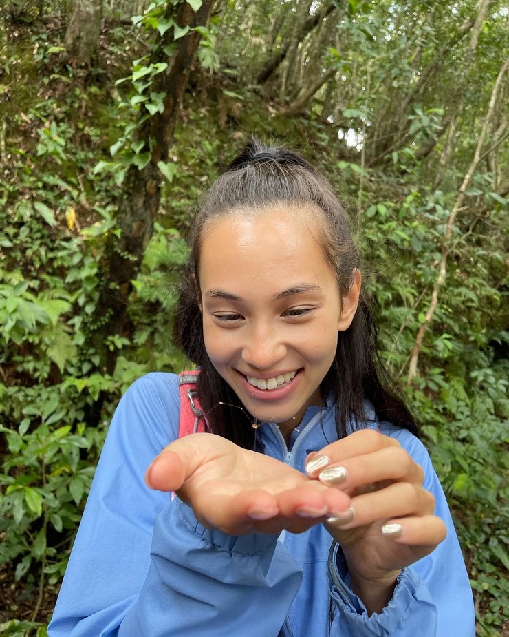
[[[421,466],[398,441],[367,429],[310,455],[306,470],[351,497],[351,515],[329,519],[325,527],[343,549],[354,592],[370,614],[381,612],[400,570],[446,536]]]

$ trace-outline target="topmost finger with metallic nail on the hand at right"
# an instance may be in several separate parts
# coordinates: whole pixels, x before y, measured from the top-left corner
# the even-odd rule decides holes
[[[378,433],[373,429],[356,431],[345,438],[323,447],[319,452],[307,457],[305,470],[310,477],[316,477],[326,466],[338,464],[347,458],[380,451],[387,447],[399,447],[396,439]]]

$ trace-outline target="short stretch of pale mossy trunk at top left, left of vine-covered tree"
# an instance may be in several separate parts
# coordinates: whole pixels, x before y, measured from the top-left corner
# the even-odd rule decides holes
[[[99,51],[101,1],[76,0],[65,33],[65,60],[88,66]]]

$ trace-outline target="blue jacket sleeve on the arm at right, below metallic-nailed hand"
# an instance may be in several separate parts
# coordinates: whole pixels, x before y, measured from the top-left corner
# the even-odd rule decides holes
[[[382,424],[424,469],[424,488],[435,497],[435,515],[447,527],[446,539],[428,556],[402,570],[393,597],[380,614],[368,616],[349,589],[343,552],[333,547],[329,559],[330,594],[335,605],[332,637],[474,637],[472,589],[446,497],[422,443],[407,430]]]

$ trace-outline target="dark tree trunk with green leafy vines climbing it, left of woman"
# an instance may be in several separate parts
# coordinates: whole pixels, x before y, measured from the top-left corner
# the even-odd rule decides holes
[[[210,16],[215,0],[204,0],[202,6],[193,12],[185,1],[177,12],[175,22],[185,26],[204,26]],[[167,36],[167,38],[166,38]],[[154,91],[166,93],[164,112],[156,113],[140,128],[138,138],[151,140],[151,161],[142,170],[131,166],[127,172],[122,196],[118,205],[118,226],[120,238],[110,244],[108,251],[107,278],[97,304],[98,335],[102,342],[109,335],[125,332],[126,311],[132,281],[138,275],[144,251],[153,233],[153,223],[160,205],[161,174],[159,161],[166,162],[173,140],[173,130],[177,118],[184,87],[191,63],[200,39],[199,32],[192,30],[177,40],[178,48],[173,54],[168,69],[156,76]],[[161,46],[173,41],[173,29],[164,34]],[[159,61],[156,50],[150,63]],[[106,351],[106,369],[113,373],[116,351]]]

